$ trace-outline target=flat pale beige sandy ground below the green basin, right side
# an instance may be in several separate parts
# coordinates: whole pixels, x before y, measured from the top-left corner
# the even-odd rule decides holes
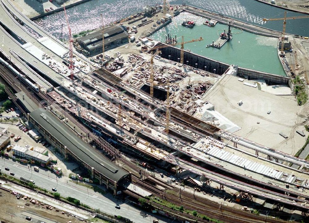
[[[234,134],[294,155],[305,143],[306,137],[295,131],[304,130],[303,124],[309,118],[308,104],[297,106],[294,96],[269,94],[245,86],[238,79],[225,76],[204,100],[209,100],[216,111],[242,128]],[[243,100],[241,106],[237,104],[239,100]],[[268,111],[271,111],[269,115]],[[284,139],[280,132],[288,138]]]

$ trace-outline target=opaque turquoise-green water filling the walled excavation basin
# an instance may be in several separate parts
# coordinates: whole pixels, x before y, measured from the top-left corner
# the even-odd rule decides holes
[[[190,29],[181,26],[183,19],[190,19],[196,22],[196,25]],[[192,53],[199,54],[227,64],[237,64],[239,67],[258,70],[271,74],[286,76],[277,54],[277,39],[272,37],[260,36],[250,32],[241,31],[232,28],[233,39],[224,44],[221,49],[209,47],[212,41],[219,38],[219,34],[228,29],[228,26],[217,23],[215,27],[203,25],[206,19],[183,12],[176,16],[173,23],[155,32],[151,38],[165,41],[165,36],[170,33],[177,36],[180,42],[181,36],[184,41],[198,39],[203,37],[200,42],[188,43],[184,49],[190,49]],[[175,24],[177,23],[177,27]],[[178,45],[180,47],[180,45]]]

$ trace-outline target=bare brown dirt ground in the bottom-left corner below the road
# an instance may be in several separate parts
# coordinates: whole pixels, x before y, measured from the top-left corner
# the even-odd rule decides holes
[[[29,204],[29,206],[27,205]],[[24,223],[26,222],[26,216],[33,218],[39,221],[48,222],[81,222],[74,218],[73,216],[61,214],[61,210],[57,212],[56,208],[49,210],[43,208],[44,205],[35,205],[30,203],[29,198],[27,200],[17,199],[16,196],[13,196],[10,192],[0,190],[0,220],[7,223]],[[47,221],[46,221],[47,222]]]

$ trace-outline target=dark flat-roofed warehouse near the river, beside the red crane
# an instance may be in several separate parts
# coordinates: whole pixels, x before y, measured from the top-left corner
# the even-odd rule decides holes
[[[102,31],[89,33],[79,37],[76,41],[85,50],[82,51],[86,56],[93,56],[102,53],[103,35]],[[104,49],[114,48],[129,42],[128,34],[119,26],[111,25],[104,28]],[[87,53],[86,53],[87,52]]]

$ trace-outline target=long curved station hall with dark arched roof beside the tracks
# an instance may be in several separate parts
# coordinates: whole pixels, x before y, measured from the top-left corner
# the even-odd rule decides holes
[[[91,178],[99,180],[114,194],[131,181],[131,175],[98,154],[91,146],[72,133],[49,111],[39,108],[28,114],[28,124],[67,159],[74,159],[91,171]],[[28,128],[28,127],[27,127]]]

